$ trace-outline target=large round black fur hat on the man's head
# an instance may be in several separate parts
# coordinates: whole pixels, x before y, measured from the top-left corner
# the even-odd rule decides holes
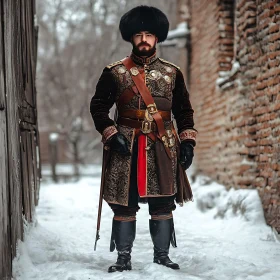
[[[119,29],[125,41],[130,42],[132,35],[139,31],[149,31],[157,36],[160,43],[167,37],[169,21],[155,7],[138,6],[121,17]]]

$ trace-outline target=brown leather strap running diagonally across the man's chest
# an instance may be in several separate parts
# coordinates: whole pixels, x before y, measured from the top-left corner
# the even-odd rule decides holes
[[[126,57],[122,60],[122,63],[130,72],[132,80],[135,83],[136,87],[138,88],[139,93],[141,94],[146,106],[148,107],[149,105],[155,104],[155,101],[151,95],[151,92],[147,88],[145,81],[144,81],[143,77],[140,75],[140,73],[136,67],[136,64],[133,62],[133,60],[130,57]],[[136,68],[137,71],[132,74],[130,70],[131,70],[131,68],[134,68],[134,67]],[[165,131],[162,117],[159,112],[153,113],[152,117],[157,124],[159,138],[162,141],[162,137],[163,136],[166,137],[166,131]],[[165,145],[164,145],[164,147],[165,147],[165,151],[167,152],[168,156],[171,158],[171,153],[170,153],[169,148],[166,147]]]

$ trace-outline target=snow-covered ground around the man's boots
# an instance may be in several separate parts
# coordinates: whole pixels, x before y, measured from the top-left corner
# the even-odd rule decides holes
[[[37,221],[25,228],[25,241],[13,261],[17,280],[168,279],[277,280],[280,243],[266,226],[254,190],[230,190],[199,177],[194,202],[177,207],[178,248],[170,257],[181,269],[152,263],[147,205],[140,205],[132,252],[133,270],[107,273],[116,252],[109,252],[112,213],[103,204],[101,239],[93,250],[100,177],[77,183],[41,185]]]

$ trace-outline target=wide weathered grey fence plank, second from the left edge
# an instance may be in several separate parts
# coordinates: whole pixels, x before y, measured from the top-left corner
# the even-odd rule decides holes
[[[12,257],[16,255],[17,240],[23,238],[22,222],[22,180],[20,158],[19,106],[21,98],[21,45],[20,2],[4,1],[5,71],[7,94],[7,127],[11,211]]]

